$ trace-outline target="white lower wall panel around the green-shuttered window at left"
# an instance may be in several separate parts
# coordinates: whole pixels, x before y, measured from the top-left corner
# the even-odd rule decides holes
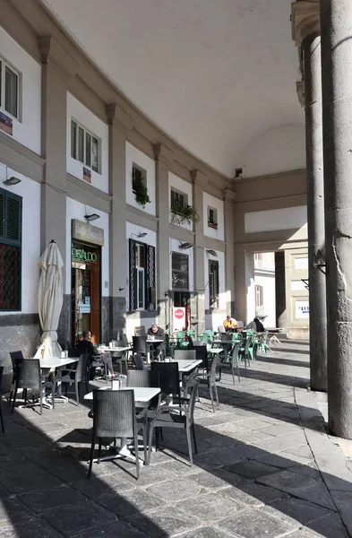
[[[7,178],[16,176],[21,183],[6,187],[6,167],[0,163],[0,186],[14,195],[22,197],[22,280],[21,313],[38,313],[39,257],[40,252],[40,185],[37,181],[22,176],[16,170],[7,169]],[[9,312],[0,312],[8,315]],[[11,312],[13,314],[13,312]]]

